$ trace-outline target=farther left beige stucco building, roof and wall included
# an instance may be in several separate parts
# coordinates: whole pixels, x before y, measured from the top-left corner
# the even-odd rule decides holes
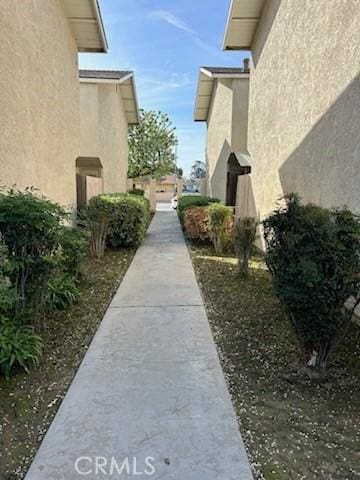
[[[80,70],[80,155],[76,168],[78,175],[98,178],[92,188],[106,193],[126,191],[128,126],[138,122],[133,72]],[[79,181],[78,205],[85,200],[79,198]]]

